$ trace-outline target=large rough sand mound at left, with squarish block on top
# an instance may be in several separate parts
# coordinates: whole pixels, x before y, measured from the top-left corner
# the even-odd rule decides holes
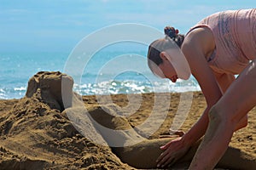
[[[0,169],[130,168],[109,147],[90,142],[73,127],[62,111],[61,77],[66,75],[39,72],[30,79],[26,97],[5,101]]]

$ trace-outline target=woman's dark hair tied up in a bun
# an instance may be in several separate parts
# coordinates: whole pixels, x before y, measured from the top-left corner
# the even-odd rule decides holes
[[[177,48],[177,46],[180,48],[184,40],[184,35],[178,34],[178,30],[174,27],[166,26],[164,31],[166,37],[155,40],[148,47],[148,67],[151,71],[153,71],[153,65],[160,65],[163,62],[160,58],[161,52],[169,48]]]

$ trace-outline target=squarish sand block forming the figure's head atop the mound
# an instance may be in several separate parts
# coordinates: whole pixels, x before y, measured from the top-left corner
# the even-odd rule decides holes
[[[40,71],[28,82],[26,97],[31,98],[32,96],[52,109],[64,111],[65,108],[71,106],[73,78],[59,71]],[[65,99],[65,103],[63,99]]]

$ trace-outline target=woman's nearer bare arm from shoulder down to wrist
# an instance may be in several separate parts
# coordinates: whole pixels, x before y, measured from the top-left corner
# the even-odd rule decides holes
[[[183,136],[183,140],[187,144],[195,144],[204,135],[208,125],[208,111],[222,97],[222,90],[205,58],[207,52],[214,48],[212,31],[207,27],[191,31],[183,42],[183,54],[188,59],[190,70],[207,100],[207,109],[198,122]]]

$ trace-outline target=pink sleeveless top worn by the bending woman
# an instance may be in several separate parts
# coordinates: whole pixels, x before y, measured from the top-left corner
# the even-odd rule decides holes
[[[213,71],[239,74],[256,59],[256,9],[228,10],[212,14],[196,27],[212,30],[215,50],[208,59]]]

